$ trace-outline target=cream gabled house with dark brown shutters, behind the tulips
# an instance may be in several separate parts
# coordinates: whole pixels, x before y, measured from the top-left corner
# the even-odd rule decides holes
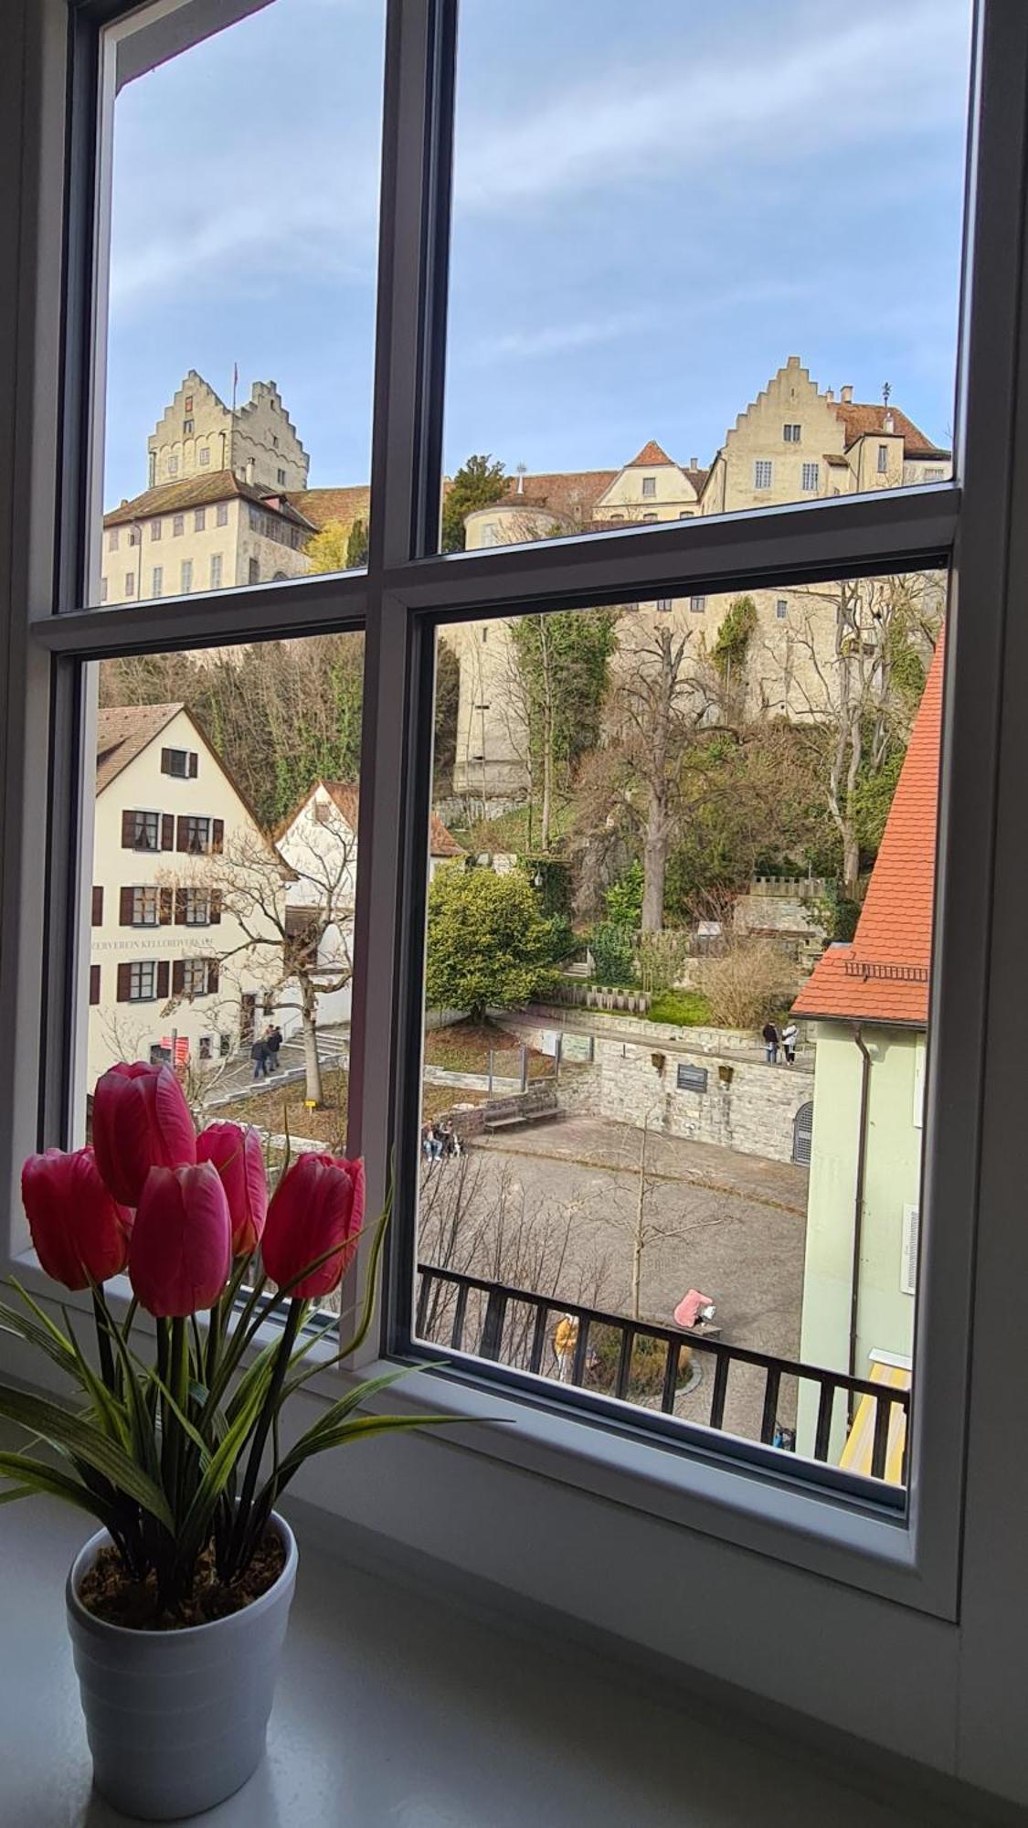
[[[119,1058],[225,1058],[263,1020],[278,954],[247,945],[198,870],[243,834],[267,843],[183,704],[99,711],[90,1088]]]

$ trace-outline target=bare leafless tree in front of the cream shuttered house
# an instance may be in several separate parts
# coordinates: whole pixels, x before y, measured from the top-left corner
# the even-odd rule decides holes
[[[196,885],[218,892],[243,932],[220,963],[247,958],[276,1011],[300,1015],[307,1100],[320,1106],[318,1004],[353,978],[355,834],[331,806],[324,823],[291,841],[289,863],[260,834],[236,832],[221,856],[198,857],[194,870]]]

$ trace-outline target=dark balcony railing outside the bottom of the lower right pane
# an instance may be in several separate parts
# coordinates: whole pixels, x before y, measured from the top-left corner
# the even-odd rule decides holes
[[[562,1322],[569,1322],[563,1333]],[[697,1364],[708,1360],[713,1373],[710,1402],[702,1402],[706,1413],[695,1413],[690,1404],[688,1419],[713,1429],[728,1428],[772,1448],[794,1446],[796,1397],[807,1386],[818,1395],[810,1453],[825,1464],[832,1448],[832,1424],[838,1446],[838,1426],[845,1420],[849,1431],[858,1404],[869,1398],[874,1415],[871,1477],[885,1479],[889,1450],[900,1426],[900,1484],[905,1484],[909,1389],[776,1358],[702,1331],[660,1327],[529,1289],[512,1289],[434,1263],[419,1263],[415,1331],[419,1338],[452,1351],[594,1389],[662,1415],[682,1415],[682,1398],[693,1387],[693,1355],[701,1355]],[[702,1386],[706,1391],[706,1376]],[[783,1409],[788,1422],[783,1422]]]

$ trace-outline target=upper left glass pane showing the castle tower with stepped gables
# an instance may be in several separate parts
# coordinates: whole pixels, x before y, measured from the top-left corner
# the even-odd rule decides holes
[[[199,13],[106,37],[90,603],[364,563],[384,4]]]

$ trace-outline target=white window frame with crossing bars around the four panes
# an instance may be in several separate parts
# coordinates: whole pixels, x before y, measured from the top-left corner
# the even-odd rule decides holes
[[[188,4],[205,0],[185,0],[183,13]],[[168,0],[159,9],[174,11]],[[95,267],[90,238],[66,236],[66,208],[79,230],[93,208],[90,46],[101,15],[112,11],[91,0],[73,9],[64,0],[13,0],[0,66],[0,227],[16,254],[0,271],[0,400],[13,402],[0,415],[0,611],[9,634],[0,1002],[13,1036],[0,1057],[0,1097],[11,1117],[0,1137],[7,1259],[46,1291],[27,1252],[16,1174],[31,1148],[73,1137],[66,1113],[82,1108],[86,1089],[82,859],[91,854],[93,733],[86,662],[212,638],[238,643],[282,625],[366,627],[362,770],[373,792],[360,795],[349,1146],[366,1155],[375,1210],[397,1144],[379,1344],[388,1356],[406,1356],[435,622],[481,620],[510,603],[653,601],[949,561],[922,1188],[931,1223],[905,1515],[807,1488],[781,1472],[781,1461],[777,1479],[755,1477],[759,1453],[730,1457],[712,1440],[673,1453],[635,1433],[631,1419],[626,1429],[600,1428],[584,1408],[569,1411],[560,1393],[527,1404],[510,1378],[474,1362],[421,1367],[404,1386],[412,1406],[446,1406],[466,1419],[457,1446],[423,1437],[382,1450],[393,1451],[390,1477],[348,1481],[360,1492],[346,1497],[340,1473],[340,1490],[326,1501],[441,1559],[454,1556],[459,1534],[466,1570],[532,1601],[629,1632],[644,1651],[1028,1801],[1028,1755],[1015,1726],[1021,1689],[1012,1682],[1028,1642],[1023,1545],[1019,1528],[1001,1526],[1028,1506],[1024,1457],[1010,1451],[1028,1285],[1015,1148],[1024,1018],[1013,994],[1019,909],[1028,896],[1021,839],[1028,627],[1006,616],[1008,601],[1019,605],[1028,594],[1028,526],[1010,508],[1028,481],[1028,360],[1019,360],[1028,298],[1021,254],[1028,9],[982,0],[977,15],[968,230],[975,261],[964,287],[949,484],[435,556],[455,9],[450,0],[390,0],[368,569],[238,589],[216,605],[194,592],[188,605],[82,611],[86,579],[90,598],[99,594],[91,530],[101,526],[101,444],[93,424],[82,488],[80,441],[70,426],[86,426],[88,400],[104,391],[102,338],[91,331],[104,311],[104,157]],[[126,27],[115,31],[128,37]],[[5,104],[4,84],[18,77],[29,84],[24,108]],[[112,90],[104,71],[101,119]],[[49,834],[46,846],[40,832]],[[71,1009],[68,982],[80,987]],[[980,1323],[971,1327],[973,1314]],[[326,1380],[338,1389],[342,1375]],[[322,1400],[316,1386],[307,1400]],[[505,1415],[514,1428],[492,1426]],[[410,1497],[399,1514],[397,1481]],[[481,1530],[468,1530],[468,1517],[479,1515]],[[525,1557],[529,1528],[560,1539],[565,1552]],[[616,1581],[611,1567],[620,1570]]]

